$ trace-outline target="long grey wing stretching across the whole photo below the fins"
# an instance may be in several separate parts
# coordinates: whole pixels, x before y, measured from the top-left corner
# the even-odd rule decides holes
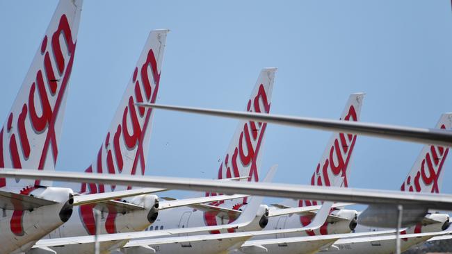
[[[0,177],[59,180],[74,183],[104,183],[110,185],[186,189],[226,194],[249,194],[294,199],[311,199],[362,204],[419,205],[436,210],[452,210],[452,195],[422,194],[380,189],[354,189],[289,185],[278,183],[252,183],[217,181],[197,178],[172,178],[161,176],[115,176],[99,173],[76,173],[69,171],[47,172],[36,170],[0,170]]]

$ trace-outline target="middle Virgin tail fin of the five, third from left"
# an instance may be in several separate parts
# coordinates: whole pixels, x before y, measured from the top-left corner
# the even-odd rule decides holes
[[[248,112],[270,112],[276,70],[276,68],[261,70],[246,106]],[[259,151],[264,143],[266,126],[266,123],[254,121],[239,122],[218,169],[218,179],[248,176],[248,181],[259,181],[258,169],[261,164]]]

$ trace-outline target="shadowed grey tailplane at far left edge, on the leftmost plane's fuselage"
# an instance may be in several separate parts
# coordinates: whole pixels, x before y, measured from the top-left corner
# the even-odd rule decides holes
[[[0,191],[0,208],[7,210],[33,210],[44,205],[54,205],[57,202],[44,198]]]

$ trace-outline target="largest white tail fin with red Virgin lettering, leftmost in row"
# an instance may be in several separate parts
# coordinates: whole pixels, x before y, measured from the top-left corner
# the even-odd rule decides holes
[[[0,130],[0,167],[54,170],[82,0],[60,0]],[[5,180],[11,189],[49,181]]]

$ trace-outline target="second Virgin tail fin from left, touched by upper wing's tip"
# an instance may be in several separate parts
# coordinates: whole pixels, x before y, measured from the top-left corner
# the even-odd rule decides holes
[[[106,138],[86,172],[144,175],[154,110],[135,103],[156,101],[168,31],[154,30],[147,37]],[[82,193],[114,189],[113,185],[108,190],[104,185],[81,186]]]

